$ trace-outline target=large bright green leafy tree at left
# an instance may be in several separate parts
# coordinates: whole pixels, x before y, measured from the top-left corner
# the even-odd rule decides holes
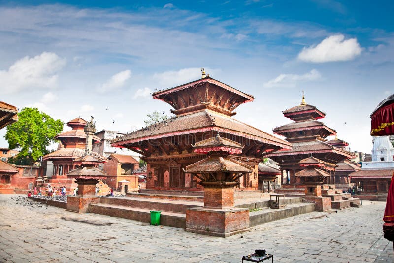
[[[54,137],[62,132],[63,122],[54,120],[51,116],[39,112],[37,108],[23,108],[18,113],[18,121],[7,126],[4,138],[8,141],[9,149],[20,152],[16,160],[24,160],[33,165],[49,151],[46,149]]]

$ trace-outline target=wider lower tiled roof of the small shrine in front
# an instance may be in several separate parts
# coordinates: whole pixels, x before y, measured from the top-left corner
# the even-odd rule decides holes
[[[231,158],[208,157],[186,166],[187,173],[237,172],[250,173],[252,168]]]

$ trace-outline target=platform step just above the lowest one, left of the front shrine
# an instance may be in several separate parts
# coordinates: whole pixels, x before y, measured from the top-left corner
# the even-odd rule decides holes
[[[117,206],[144,208],[149,210],[160,210],[175,213],[186,213],[190,207],[202,207],[203,202],[176,201],[162,199],[148,199],[135,197],[101,197],[100,203]]]

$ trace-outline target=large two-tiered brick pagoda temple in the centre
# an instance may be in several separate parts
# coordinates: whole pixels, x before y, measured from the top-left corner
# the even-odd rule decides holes
[[[147,162],[147,189],[202,191],[201,179],[184,172],[186,166],[207,158],[194,152],[196,142],[220,133],[222,138],[244,145],[233,160],[251,166],[252,172],[237,179],[242,190],[258,190],[258,164],[262,157],[291,144],[244,124],[234,118],[234,110],[253,101],[252,95],[215,80],[203,72],[202,78],[152,94],[173,108],[174,117],[112,140],[112,146],[126,147]]]

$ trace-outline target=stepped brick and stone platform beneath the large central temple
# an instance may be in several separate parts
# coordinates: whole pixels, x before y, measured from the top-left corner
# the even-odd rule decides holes
[[[191,194],[193,193],[171,191],[171,195],[165,198],[165,192],[145,191],[128,193],[126,197],[101,197],[100,203],[89,205],[89,212],[149,223],[150,211],[159,210],[161,225],[185,228],[187,209],[203,206],[203,197],[200,194],[198,196]],[[256,195],[259,194],[250,194],[249,197]],[[235,207],[251,210],[250,226],[315,211],[313,203],[303,203],[300,197],[286,198],[286,206],[281,209],[270,209],[270,200],[266,197],[236,199],[234,202]]]

